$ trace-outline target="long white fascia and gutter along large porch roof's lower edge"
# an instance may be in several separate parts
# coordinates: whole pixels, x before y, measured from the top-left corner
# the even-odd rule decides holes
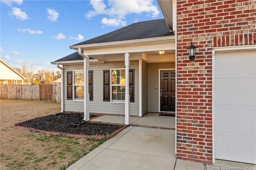
[[[83,44],[83,45],[71,45],[70,49],[98,49],[106,47],[120,47],[128,45],[138,45],[138,44],[152,44],[158,42],[174,42],[175,36],[165,36],[165,37],[156,37],[156,38],[144,38],[138,40],[126,40],[118,42],[106,42],[106,43],[92,43],[92,44]]]

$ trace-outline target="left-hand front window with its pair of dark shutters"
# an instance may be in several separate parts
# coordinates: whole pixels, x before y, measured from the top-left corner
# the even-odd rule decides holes
[[[90,101],[92,101],[92,82],[93,82],[92,73],[93,73],[92,70],[88,71],[88,90],[90,95]],[[83,99],[84,99],[84,71],[83,70],[67,71],[67,100],[83,100]]]

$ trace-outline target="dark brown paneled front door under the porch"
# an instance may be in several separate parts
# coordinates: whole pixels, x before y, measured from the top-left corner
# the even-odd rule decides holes
[[[160,109],[175,111],[175,70],[161,70]]]

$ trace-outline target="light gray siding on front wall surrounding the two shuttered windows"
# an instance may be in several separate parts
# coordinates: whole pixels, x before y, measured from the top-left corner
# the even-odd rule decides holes
[[[103,70],[125,68],[124,61],[108,61],[90,64],[93,71],[93,101],[90,101],[90,113],[107,113],[124,115],[124,103],[103,101]],[[83,70],[83,65],[64,66],[64,111],[84,112],[83,101],[66,100],[67,71]],[[130,115],[139,113],[139,69],[138,60],[130,61],[130,69],[134,69],[134,103],[130,103]]]

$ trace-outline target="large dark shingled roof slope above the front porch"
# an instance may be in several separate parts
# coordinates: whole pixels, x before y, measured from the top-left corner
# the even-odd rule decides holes
[[[173,32],[170,32],[166,21],[164,19],[151,20],[144,22],[137,22],[120,28],[113,32],[86,40],[75,45],[94,44],[94,43],[106,43],[106,42],[118,42],[126,40],[138,40],[145,38],[155,38],[164,36],[173,36]],[[74,46],[74,45],[72,45]]]

